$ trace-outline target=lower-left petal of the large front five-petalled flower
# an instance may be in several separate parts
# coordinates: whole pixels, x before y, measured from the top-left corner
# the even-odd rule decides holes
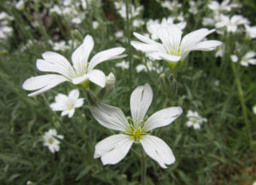
[[[125,158],[132,143],[131,138],[123,134],[108,136],[96,144],[94,158],[101,157],[103,165],[117,164]]]

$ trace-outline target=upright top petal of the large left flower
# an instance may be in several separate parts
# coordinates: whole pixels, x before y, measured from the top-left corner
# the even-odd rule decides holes
[[[84,67],[87,65],[87,61],[93,47],[93,38],[90,35],[86,35],[84,42],[79,46],[79,48],[74,50],[72,54],[72,62],[76,72],[81,71],[81,68],[84,69]]]

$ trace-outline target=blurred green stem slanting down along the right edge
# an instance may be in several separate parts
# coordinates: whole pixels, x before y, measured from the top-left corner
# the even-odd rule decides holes
[[[250,131],[250,127],[251,127],[250,122],[249,122],[248,117],[247,117],[247,107],[246,107],[245,100],[244,100],[243,90],[241,88],[241,81],[240,81],[240,78],[239,78],[239,76],[236,72],[235,63],[231,62],[231,66],[232,66],[232,71],[235,75],[236,86],[237,86],[237,90],[238,90],[239,100],[240,100],[240,103],[241,103],[242,116],[243,116],[244,122],[246,123],[247,135],[249,137],[250,147],[252,147],[253,138],[251,136],[251,131]]]

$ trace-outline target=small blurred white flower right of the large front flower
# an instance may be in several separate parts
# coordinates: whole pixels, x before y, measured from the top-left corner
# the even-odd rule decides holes
[[[193,128],[195,130],[201,129],[201,124],[203,122],[207,122],[207,119],[202,118],[201,115],[199,115],[199,113],[197,113],[196,111],[193,112],[191,110],[188,111],[187,113],[187,118],[189,119],[186,124],[188,127],[193,126]]]

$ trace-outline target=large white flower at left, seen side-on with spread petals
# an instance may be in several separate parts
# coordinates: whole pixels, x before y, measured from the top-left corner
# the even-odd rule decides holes
[[[118,47],[113,49],[103,50],[94,55],[88,63],[88,58],[91,50],[94,47],[93,38],[87,35],[82,43],[72,55],[73,66],[67,59],[55,52],[47,51],[42,56],[44,60],[38,59],[37,68],[42,72],[55,72],[58,74],[46,74],[37,77],[26,79],[22,88],[24,90],[36,90],[29,96],[39,95],[62,82],[69,81],[73,84],[88,85],[90,82],[105,87],[105,74],[94,67],[102,61],[108,61],[124,57],[122,54],[125,49]]]

